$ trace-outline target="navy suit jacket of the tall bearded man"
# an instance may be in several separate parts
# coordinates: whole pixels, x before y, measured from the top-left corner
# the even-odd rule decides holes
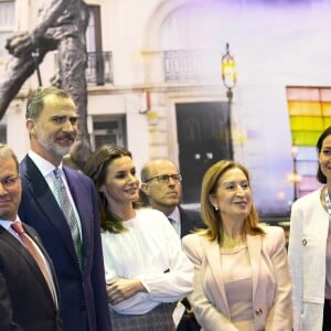
[[[42,237],[57,275],[65,331],[110,330],[105,270],[94,183],[63,167],[76,204],[83,235],[81,270],[68,224],[35,163],[26,156],[20,163],[22,201],[19,216]]]

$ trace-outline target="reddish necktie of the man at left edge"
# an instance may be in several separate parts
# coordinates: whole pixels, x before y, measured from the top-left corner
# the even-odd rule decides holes
[[[50,291],[52,293],[53,300],[54,302],[56,302],[55,300],[55,293],[54,293],[54,289],[53,289],[53,282],[51,280],[51,275],[47,270],[47,267],[45,265],[45,261],[43,260],[41,253],[36,248],[36,244],[29,237],[29,235],[25,233],[21,222],[15,221],[14,223],[11,224],[11,227],[18,233],[18,235],[20,236],[21,241],[23,242],[25,248],[28,249],[28,252],[32,255],[32,257],[34,258],[34,260],[36,261],[40,270],[42,271]]]

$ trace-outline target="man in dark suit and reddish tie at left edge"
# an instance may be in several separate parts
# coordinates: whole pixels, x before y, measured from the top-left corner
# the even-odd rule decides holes
[[[18,217],[21,192],[17,157],[0,143],[0,330],[60,331],[55,273],[36,232]]]

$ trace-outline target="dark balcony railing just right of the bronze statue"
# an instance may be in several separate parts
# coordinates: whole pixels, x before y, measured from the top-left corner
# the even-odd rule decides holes
[[[88,52],[87,68],[85,72],[86,83],[105,85],[114,83],[113,53],[111,52]]]

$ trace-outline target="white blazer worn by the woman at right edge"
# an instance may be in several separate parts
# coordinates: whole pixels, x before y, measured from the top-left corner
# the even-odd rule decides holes
[[[321,189],[307,194],[291,209],[288,252],[295,331],[322,330],[329,215],[320,194]]]

